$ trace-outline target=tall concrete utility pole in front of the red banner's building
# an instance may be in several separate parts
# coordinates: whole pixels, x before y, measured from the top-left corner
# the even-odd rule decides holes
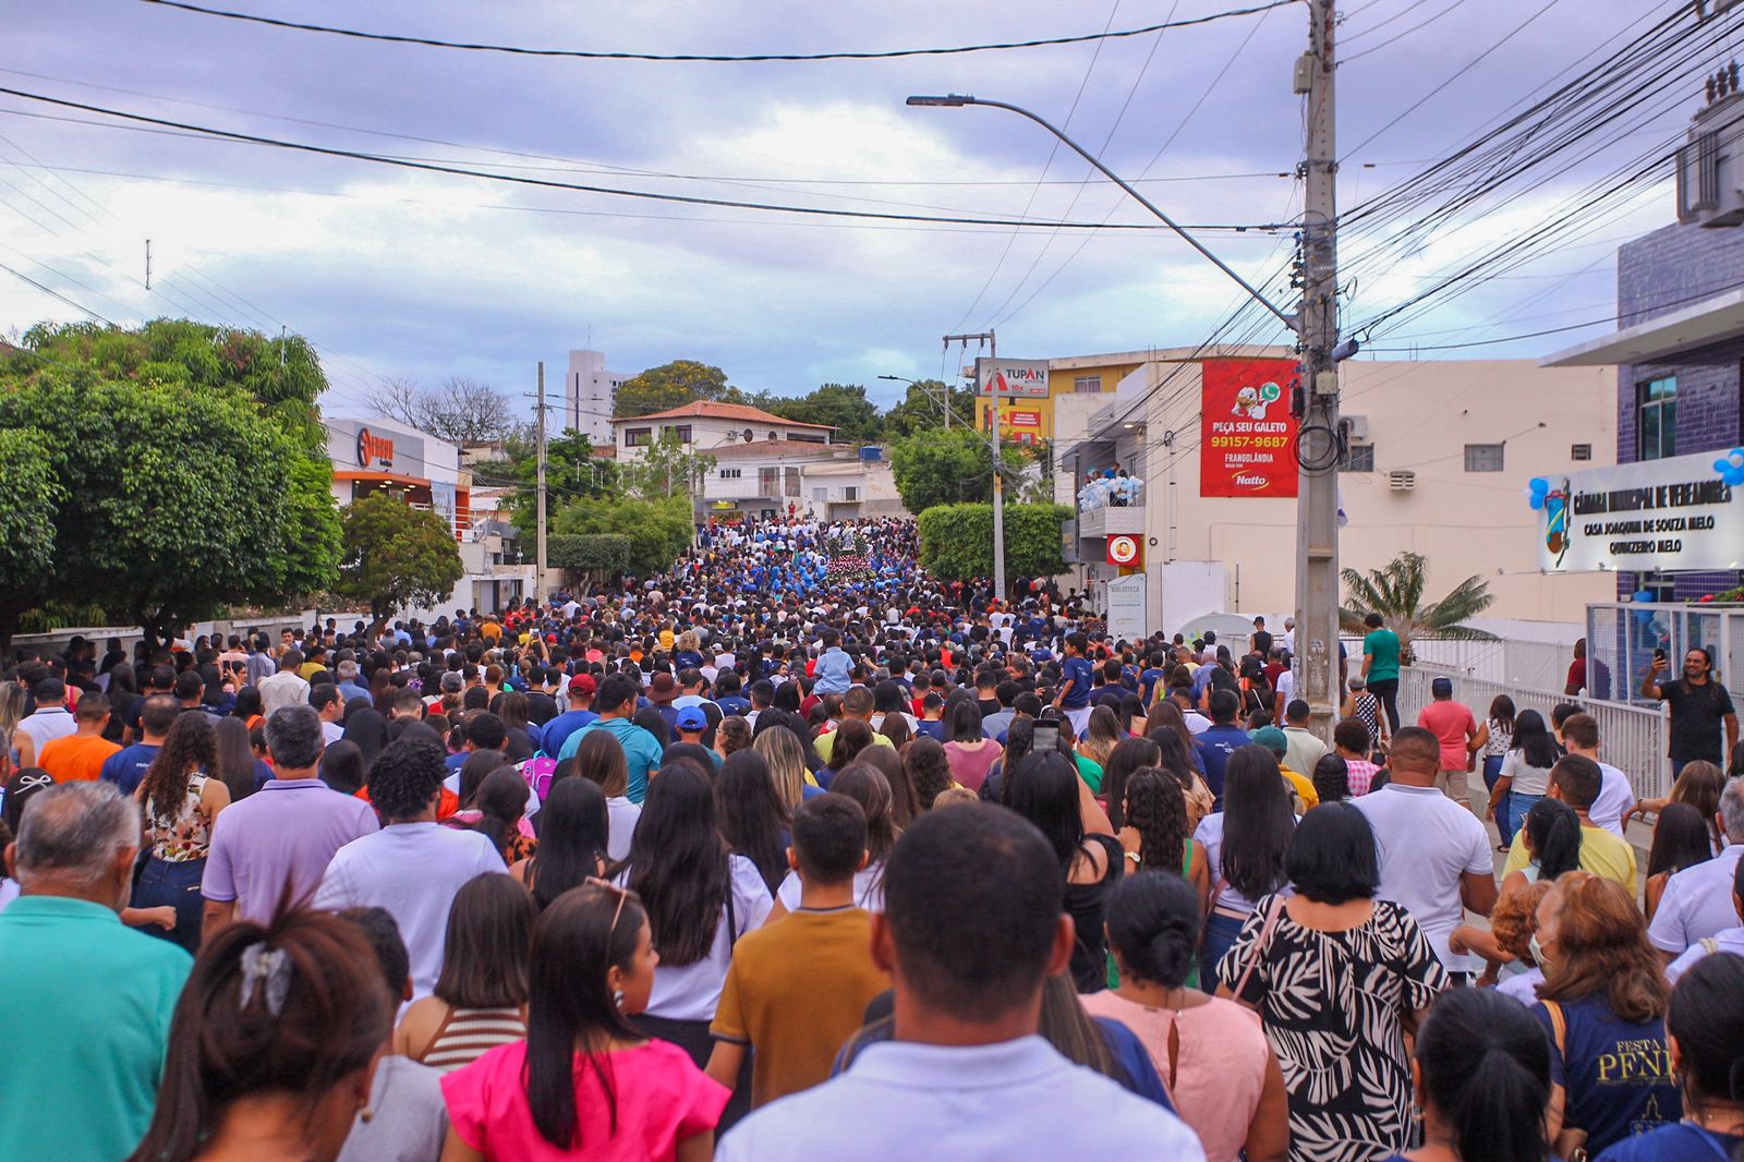
[[[1311,729],[1331,738],[1338,710],[1338,61],[1334,0],[1310,0],[1308,52],[1296,92],[1308,99],[1303,154],[1303,415],[1296,501],[1296,689]]]

